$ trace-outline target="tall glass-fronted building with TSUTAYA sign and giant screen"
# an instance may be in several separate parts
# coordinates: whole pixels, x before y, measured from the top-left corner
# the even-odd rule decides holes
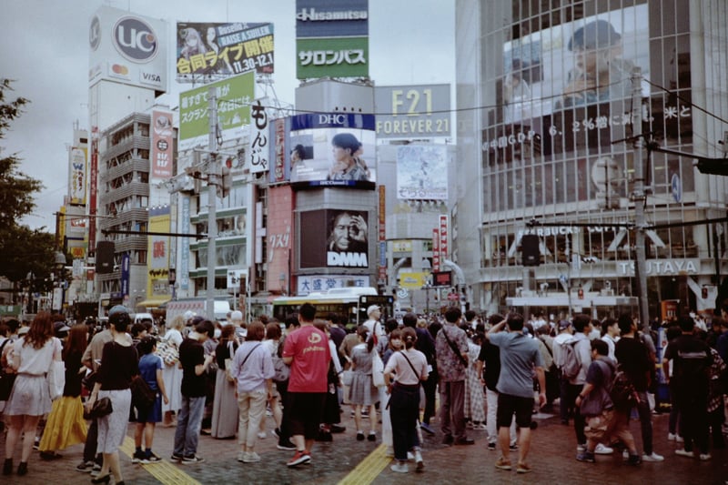
[[[728,178],[680,154],[726,153],[728,5],[494,0],[456,12],[453,257],[474,306],[504,311],[531,292],[569,291],[584,308],[584,294],[636,296],[639,203],[651,316],[671,299],[713,308],[728,269]],[[635,200],[641,181],[647,197]],[[526,234],[538,237],[537,267],[522,265]]]

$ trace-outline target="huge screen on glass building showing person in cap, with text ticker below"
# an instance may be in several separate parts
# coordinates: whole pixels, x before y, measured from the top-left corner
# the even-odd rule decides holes
[[[612,153],[632,124],[632,70],[649,78],[647,5],[542,29],[503,46],[504,124],[483,130],[487,165]],[[649,95],[642,81],[642,97]],[[551,174],[544,174],[547,182]]]

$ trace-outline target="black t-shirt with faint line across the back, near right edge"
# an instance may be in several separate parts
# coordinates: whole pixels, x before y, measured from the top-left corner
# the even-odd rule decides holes
[[[665,359],[672,360],[672,380],[683,389],[707,389],[713,357],[707,344],[692,335],[670,341]]]

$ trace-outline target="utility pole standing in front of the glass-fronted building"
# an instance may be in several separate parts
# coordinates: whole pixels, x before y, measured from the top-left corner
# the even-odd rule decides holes
[[[642,328],[649,331],[650,308],[647,303],[647,254],[644,248],[647,221],[644,215],[644,203],[647,200],[644,187],[644,161],[642,159],[642,70],[632,69],[632,136],[634,138],[634,253],[637,259],[635,272],[640,289],[640,320]]]

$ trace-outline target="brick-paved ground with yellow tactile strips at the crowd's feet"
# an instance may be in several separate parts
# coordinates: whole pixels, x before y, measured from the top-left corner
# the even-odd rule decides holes
[[[597,457],[596,464],[574,460],[576,439],[571,427],[562,426],[559,419],[542,415],[537,419],[539,428],[533,436],[531,467],[528,475],[517,475],[515,471],[496,470],[493,463],[496,451],[486,449],[485,431],[470,430],[476,440],[474,446],[446,447],[440,444],[440,434],[426,437],[423,456],[425,470],[422,473],[394,473],[389,470],[390,461],[384,456],[380,441],[357,441],[353,419],[349,409],[343,419],[347,431],[334,435],[332,443],[318,443],[313,450],[310,465],[288,469],[286,461],[290,451],[276,449],[276,440],[269,436],[258,441],[259,463],[243,464],[236,458],[238,444],[235,440],[214,440],[202,437],[199,455],[205,462],[197,465],[177,465],[167,459],[171,454],[174,429],[158,428],[155,450],[165,462],[154,465],[133,465],[130,455],[133,451],[130,439],[122,449],[122,467],[126,483],[185,484],[185,483],[275,483],[275,484],[460,484],[460,483],[642,483],[642,484],[720,484],[728,483],[728,451],[713,450],[713,460],[701,462],[674,455],[674,445],[667,440],[667,415],[653,419],[655,429],[655,450],[665,456],[662,463],[643,463],[630,467],[622,462],[621,456]],[[640,442],[640,426],[632,421],[632,432]],[[272,419],[268,419],[272,429]],[[129,428],[130,432],[132,428]],[[131,436],[131,435],[130,435]],[[3,437],[5,449],[5,438]],[[25,477],[13,475],[0,477],[2,483],[90,483],[88,474],[74,468],[81,460],[82,447],[77,445],[62,452],[63,459],[39,460],[34,453],[29,472]],[[15,452],[15,464],[19,460],[19,448]],[[516,460],[515,454],[511,457]]]

